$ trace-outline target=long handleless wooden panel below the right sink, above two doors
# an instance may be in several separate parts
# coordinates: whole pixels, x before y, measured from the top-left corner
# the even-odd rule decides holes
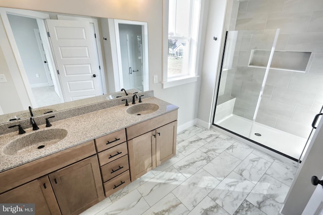
[[[127,127],[127,140],[177,120],[177,110]]]

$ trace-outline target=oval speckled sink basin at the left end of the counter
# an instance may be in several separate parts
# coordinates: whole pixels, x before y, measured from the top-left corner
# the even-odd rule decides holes
[[[36,152],[47,146],[56,144],[64,139],[67,130],[62,128],[53,128],[40,131],[32,131],[27,135],[21,136],[11,141],[3,150],[6,155],[22,155]]]

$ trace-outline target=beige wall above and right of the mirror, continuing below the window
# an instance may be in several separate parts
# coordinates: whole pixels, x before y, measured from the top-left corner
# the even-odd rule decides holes
[[[196,118],[198,82],[169,89],[161,87],[163,0],[0,0],[0,7],[147,22],[149,89],[154,90],[156,97],[180,107],[179,125],[190,123]],[[152,84],[153,75],[158,76],[157,84]]]

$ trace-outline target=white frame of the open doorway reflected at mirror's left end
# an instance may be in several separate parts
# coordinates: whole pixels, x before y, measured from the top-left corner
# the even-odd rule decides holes
[[[17,66],[18,66],[18,71],[19,71],[19,73],[17,73],[17,71],[11,70],[10,73],[12,75],[13,82],[14,82],[14,85],[15,85],[17,91],[18,92],[25,91],[28,95],[27,100],[29,100],[29,101],[27,101],[26,98],[22,98],[22,96],[20,96],[22,106],[28,107],[31,105],[32,107],[38,107],[36,100],[34,98],[34,95],[32,93],[31,86],[30,86],[30,83],[29,83],[29,80],[28,80],[28,77],[26,74],[26,70],[25,70],[23,61],[21,59],[21,56],[19,54],[18,46],[16,44],[16,40],[14,38],[14,34],[13,34],[12,28],[10,26],[10,22],[9,22],[7,14],[36,19],[37,24],[38,24],[38,28],[39,28],[39,32],[40,32],[40,37],[44,42],[45,52],[46,52],[46,55],[48,56],[47,60],[48,60],[49,70],[50,70],[50,73],[53,78],[53,83],[55,85],[55,91],[56,91],[56,93],[58,93],[59,97],[61,98],[61,102],[64,102],[64,97],[62,96],[63,94],[62,94],[61,86],[58,81],[57,74],[54,72],[57,70],[55,64],[53,63],[53,62],[55,62],[55,60],[53,60],[53,55],[52,55],[52,52],[51,52],[51,49],[49,46],[48,37],[45,36],[45,35],[47,35],[47,31],[46,31],[44,20],[49,19],[49,15],[46,13],[40,13],[40,12],[35,12],[35,11],[11,9],[11,8],[1,8],[0,9],[0,16],[3,20],[4,28],[5,28],[5,31],[8,36],[8,41],[11,45],[11,48],[12,48],[12,51],[13,51],[13,54],[14,54],[14,57],[15,57],[15,60],[16,60]],[[18,81],[20,79],[20,77],[22,79],[24,86],[22,86],[20,84],[20,82]],[[20,93],[18,93],[18,94],[20,95]]]

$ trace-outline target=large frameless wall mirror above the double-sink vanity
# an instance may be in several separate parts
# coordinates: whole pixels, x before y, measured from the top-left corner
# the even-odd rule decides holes
[[[149,90],[147,23],[0,8],[0,123]],[[109,97],[113,98],[113,97]]]

